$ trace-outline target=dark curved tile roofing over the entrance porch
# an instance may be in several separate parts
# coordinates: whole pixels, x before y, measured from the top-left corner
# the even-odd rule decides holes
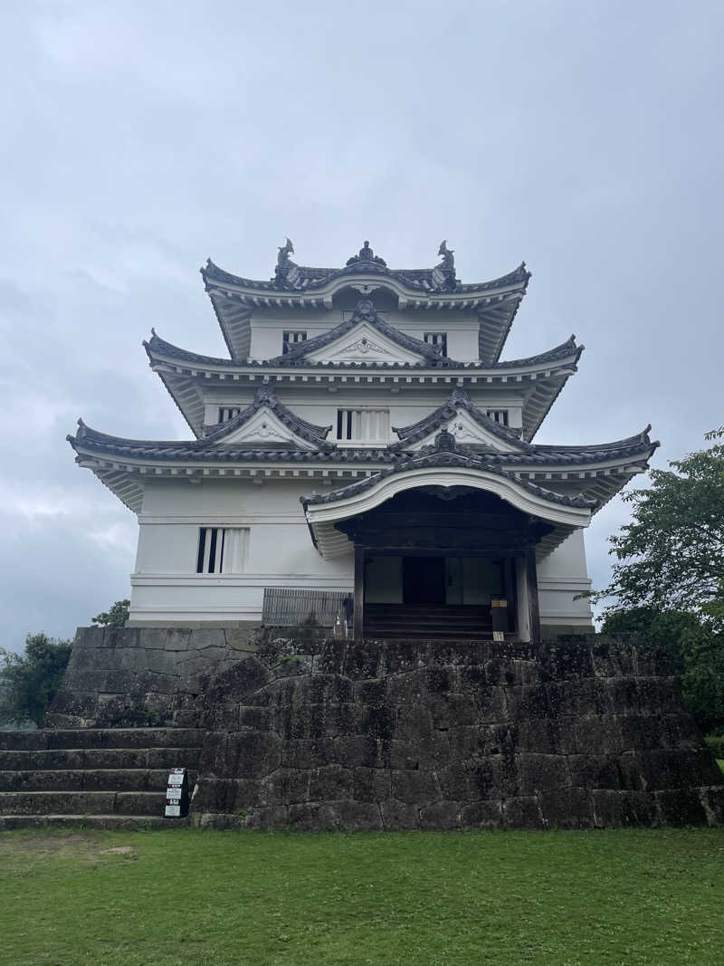
[[[535,494],[537,497],[542,497],[550,503],[561,503],[564,506],[577,506],[587,509],[595,506],[595,500],[584,497],[563,496],[562,494],[553,493],[551,490],[545,490],[543,487],[537,486],[535,483],[530,483],[528,480],[518,479],[515,473],[507,469],[501,469],[496,462],[489,460],[487,454],[477,454],[465,446],[457,445],[455,438],[445,431],[438,435],[433,446],[425,446],[417,453],[397,460],[392,467],[380,469],[363,480],[357,480],[354,483],[348,484],[348,486],[340,487],[329,493],[316,494],[313,497],[300,497],[300,500],[305,508],[319,503],[334,503],[339,499],[346,499],[355,494],[364,493],[365,490],[370,490],[376,486],[380,480],[396,473],[407,472],[411,469],[446,469],[449,467],[480,469],[494,473],[497,476],[503,476],[506,479],[513,480],[522,489]]]

